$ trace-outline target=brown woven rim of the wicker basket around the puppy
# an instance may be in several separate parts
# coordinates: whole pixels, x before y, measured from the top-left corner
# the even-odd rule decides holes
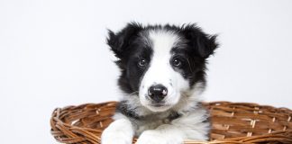
[[[88,109],[95,106],[104,106],[102,108],[107,107],[113,107],[115,106],[117,102],[110,101],[110,102],[104,102],[104,103],[83,103],[79,105],[69,105],[64,108],[56,108],[52,112],[52,117],[50,119],[50,126],[51,126],[51,134],[57,139],[57,141],[61,143],[75,143],[74,139],[76,141],[89,141],[91,143],[99,143],[100,140],[100,134],[102,132],[102,129],[92,129],[92,128],[84,128],[79,127],[76,125],[68,124],[67,119],[63,119],[66,117],[66,114],[69,115],[70,111],[64,114],[64,111],[66,110],[78,110],[80,109]],[[226,104],[233,104],[233,105],[248,105],[253,107],[260,107],[260,108],[267,108],[271,110],[275,110],[278,112],[286,112],[289,118],[292,116],[292,110],[286,108],[286,107],[279,107],[275,108],[270,105],[260,105],[258,103],[234,103],[234,102],[227,102],[227,101],[216,101],[216,102],[209,102],[208,105],[214,105],[220,104],[220,103],[226,103]],[[98,110],[98,108],[97,108]],[[96,112],[98,112],[96,110]],[[62,115],[63,114],[63,115]],[[108,115],[107,115],[108,116]],[[102,116],[101,116],[102,117]],[[290,118],[291,119],[291,118]],[[288,124],[292,123],[291,121],[287,121]],[[74,133],[74,132],[76,133]],[[67,134],[64,134],[67,133]],[[80,134],[81,133],[81,134]],[[96,135],[97,133],[97,135]],[[81,137],[80,137],[81,135]],[[86,135],[84,137],[84,135]],[[82,138],[83,136],[83,138]],[[89,139],[89,140],[88,140]],[[91,140],[91,141],[90,141]],[[290,125],[288,127],[288,130],[277,130],[277,131],[271,131],[267,134],[262,134],[260,136],[251,136],[251,137],[236,137],[236,138],[226,138],[226,139],[213,139],[211,141],[196,141],[196,140],[185,140],[186,144],[202,144],[202,143],[212,143],[212,144],[218,144],[218,143],[253,143],[263,140],[269,140],[269,141],[281,141],[285,140],[290,143],[292,143],[292,129],[290,129]],[[87,142],[76,142],[76,143],[87,143]]]

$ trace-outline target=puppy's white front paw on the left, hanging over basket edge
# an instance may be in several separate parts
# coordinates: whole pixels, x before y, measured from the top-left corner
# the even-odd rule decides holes
[[[132,144],[132,123],[126,119],[112,122],[102,133],[102,144]]]

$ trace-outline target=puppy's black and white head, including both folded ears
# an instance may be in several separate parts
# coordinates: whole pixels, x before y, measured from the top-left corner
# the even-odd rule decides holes
[[[182,97],[204,89],[205,59],[217,47],[215,36],[194,24],[129,23],[122,31],[109,31],[107,43],[119,58],[121,89],[139,96],[141,105],[152,112],[167,111]]]

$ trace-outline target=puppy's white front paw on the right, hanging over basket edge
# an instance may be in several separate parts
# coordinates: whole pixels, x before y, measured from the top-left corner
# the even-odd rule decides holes
[[[160,133],[158,130],[145,130],[137,140],[136,144],[182,144],[183,139],[176,136]]]

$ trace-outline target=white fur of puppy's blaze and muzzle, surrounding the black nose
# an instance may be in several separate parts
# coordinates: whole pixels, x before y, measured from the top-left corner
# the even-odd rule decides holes
[[[141,80],[139,97],[141,104],[152,112],[163,112],[178,103],[180,92],[185,90],[188,83],[170,65],[170,50],[178,44],[178,35],[170,31],[150,31],[149,39],[153,56],[150,67]],[[164,106],[152,107],[146,96],[151,85],[158,84],[166,86],[168,94],[165,97]]]

